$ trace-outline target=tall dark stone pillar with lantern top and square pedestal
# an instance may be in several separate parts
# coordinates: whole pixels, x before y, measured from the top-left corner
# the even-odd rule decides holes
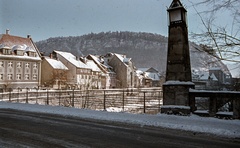
[[[180,0],[173,0],[167,11],[169,36],[163,105],[189,106],[189,88],[194,88],[194,84],[191,82],[187,11]]]

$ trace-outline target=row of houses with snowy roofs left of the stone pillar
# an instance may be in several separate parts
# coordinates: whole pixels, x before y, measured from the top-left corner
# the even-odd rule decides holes
[[[0,35],[0,91],[152,87],[160,79],[154,68],[136,69],[126,55],[78,57],[54,50],[43,56],[30,35]]]

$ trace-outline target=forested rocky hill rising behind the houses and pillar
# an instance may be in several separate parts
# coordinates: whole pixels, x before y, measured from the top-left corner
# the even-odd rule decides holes
[[[154,67],[160,72],[166,69],[167,37],[152,33],[101,32],[76,37],[56,37],[36,42],[45,55],[53,50],[71,52],[76,56],[105,55],[108,52],[126,54],[137,68]],[[207,70],[209,67],[227,67],[209,55],[200,46],[190,43],[192,69]]]

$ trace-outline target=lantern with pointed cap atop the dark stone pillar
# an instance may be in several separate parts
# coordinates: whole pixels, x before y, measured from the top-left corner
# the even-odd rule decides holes
[[[184,23],[187,24],[187,10],[183,7],[180,0],[173,0],[168,11],[169,25]]]

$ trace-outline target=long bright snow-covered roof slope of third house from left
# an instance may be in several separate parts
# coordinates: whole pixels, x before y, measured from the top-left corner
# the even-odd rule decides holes
[[[64,59],[72,63],[74,66],[77,68],[85,68],[85,69],[91,69],[87,64],[84,64],[82,61],[78,60],[76,56],[69,52],[63,52],[63,51],[56,51],[54,50],[57,54],[61,55]]]

